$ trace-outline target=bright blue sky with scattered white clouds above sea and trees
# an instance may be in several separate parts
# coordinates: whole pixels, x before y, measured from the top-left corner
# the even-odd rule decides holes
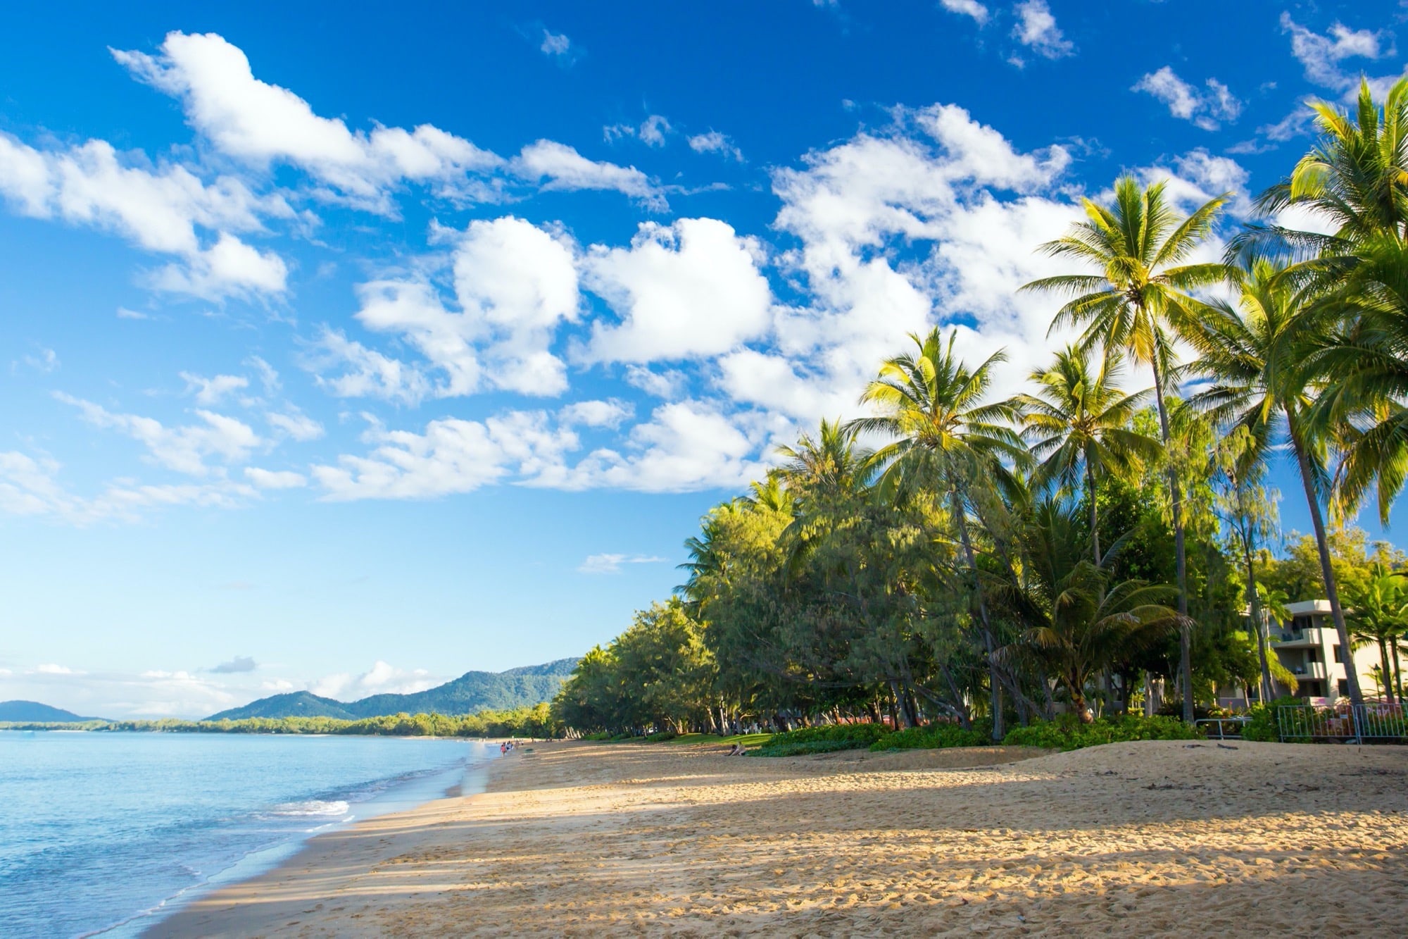
[[[1018,391],[1062,336],[1014,292],[1081,197],[1232,192],[1219,254],[1405,21],[10,4],[0,699],[190,718],[582,654],[907,334]]]

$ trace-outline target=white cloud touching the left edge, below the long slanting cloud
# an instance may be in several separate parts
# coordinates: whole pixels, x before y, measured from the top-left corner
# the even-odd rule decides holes
[[[231,176],[206,185],[183,166],[132,162],[106,141],[38,151],[0,134],[0,195],[21,214],[113,231],[146,251],[177,255],[179,264],[149,275],[158,290],[206,299],[284,290],[284,261],[232,234],[263,231],[260,216],[291,217],[283,197],[255,196]]]

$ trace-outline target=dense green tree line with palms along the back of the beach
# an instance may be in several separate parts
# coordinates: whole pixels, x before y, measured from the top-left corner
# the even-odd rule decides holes
[[[1191,720],[1215,687],[1294,685],[1267,623],[1311,598],[1343,649],[1380,649],[1370,689],[1401,696],[1405,558],[1343,519],[1374,502],[1387,520],[1408,475],[1408,80],[1312,107],[1316,144],[1221,258],[1231,193],[1181,214],[1163,183],[1124,178],[1084,200],[1038,248],[1069,272],[1022,288],[1076,340],[1024,393],[991,393],[1001,352],[911,337],[866,413],[822,422],[703,519],[679,596],[593,649],[555,718],[646,733],[888,715],[994,739],[1057,709]],[[1286,227],[1291,209],[1321,231]],[[1273,557],[1281,455],[1312,533]]]

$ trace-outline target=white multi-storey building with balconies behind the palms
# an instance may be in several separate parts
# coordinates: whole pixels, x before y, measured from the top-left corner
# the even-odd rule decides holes
[[[1309,698],[1312,704],[1333,704],[1336,698],[1349,696],[1345,650],[1340,649],[1339,634],[1335,632],[1329,601],[1288,603],[1286,609],[1291,620],[1288,623],[1271,620],[1270,639],[1276,657],[1300,682],[1295,695]],[[1378,696],[1381,694],[1381,687],[1376,681],[1380,668],[1378,647],[1362,646],[1353,656],[1359,687],[1364,696]],[[1290,691],[1277,682],[1277,694]]]

